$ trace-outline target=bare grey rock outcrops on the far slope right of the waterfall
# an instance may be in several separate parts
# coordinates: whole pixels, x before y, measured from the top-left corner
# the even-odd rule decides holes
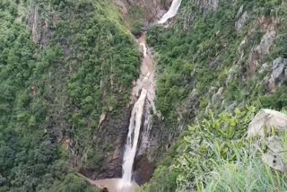
[[[220,9],[224,5],[224,1],[220,0],[212,0],[212,1],[196,1],[192,0],[191,3],[195,6],[195,12],[185,13],[183,17],[183,27],[188,30],[188,28],[192,28],[193,24],[196,20],[196,13],[202,13],[204,17],[208,16],[209,13],[216,12],[217,9]],[[233,1],[232,6],[238,7],[235,8],[236,16],[233,20],[234,30],[237,32],[237,35],[243,35],[243,38],[240,39],[240,43],[237,47],[237,57],[234,61],[234,65],[230,67],[228,72],[228,78],[225,81],[225,86],[229,86],[229,84],[233,81],[237,81],[239,78],[242,82],[248,81],[250,79],[257,79],[258,76],[262,74],[266,74],[264,78],[260,77],[260,80],[257,80],[256,87],[260,87],[261,84],[265,84],[265,92],[275,92],[276,87],[282,85],[284,77],[284,59],[279,57],[276,58],[273,62],[265,63],[266,57],[270,56],[274,49],[276,48],[275,39],[278,38],[280,33],[281,21],[283,18],[278,17],[277,14],[273,15],[255,15],[257,13],[257,9],[254,10],[248,9],[246,4],[239,6],[238,1]],[[250,24],[250,22],[252,24]],[[232,29],[232,30],[233,30]],[[216,31],[215,36],[220,36],[224,29],[219,29]],[[248,32],[247,32],[248,31]],[[255,40],[255,38],[258,38]],[[222,40],[223,41],[223,40]],[[227,41],[222,42],[223,47],[227,47]],[[219,44],[216,44],[218,46]],[[222,56],[220,53],[216,54],[216,57],[210,61],[209,66],[211,68],[220,67],[220,62],[222,62]],[[278,65],[280,63],[280,66]],[[270,73],[273,71],[273,74]],[[274,80],[273,76],[278,76],[281,74],[281,77],[277,77],[277,80]],[[235,75],[238,75],[237,77]],[[277,82],[277,83],[275,83]],[[196,90],[194,90],[196,91]],[[205,109],[205,114],[208,114],[208,110],[212,109],[211,106],[224,106],[226,100],[223,100],[224,92],[227,92],[223,87],[211,87],[209,91],[209,103],[207,108]],[[193,93],[194,94],[194,93]],[[190,96],[193,98],[192,96]],[[191,105],[195,107],[195,109],[187,109],[187,114],[198,114],[199,108],[198,100],[191,99]],[[230,106],[230,110],[234,109],[235,106],[240,106],[242,103],[233,104],[233,107]],[[185,113],[182,113],[185,114]],[[181,115],[182,116],[182,115]],[[181,117],[180,116],[180,117]],[[187,115],[187,117],[190,115]],[[180,120],[182,121],[182,120]]]

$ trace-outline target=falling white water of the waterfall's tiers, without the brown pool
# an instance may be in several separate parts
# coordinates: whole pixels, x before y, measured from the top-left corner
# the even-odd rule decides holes
[[[178,13],[178,8],[182,0],[173,0],[170,10],[168,13],[165,13],[159,23],[167,22],[171,17],[174,17]],[[139,45],[143,47],[143,64],[141,67],[142,75],[137,81],[137,85],[134,87],[134,94],[138,96],[138,91],[141,91],[141,94],[138,100],[135,102],[134,108],[132,110],[128,135],[126,139],[126,151],[124,153],[124,162],[123,162],[123,177],[119,183],[119,190],[122,192],[130,191],[133,178],[133,167],[135,161],[135,155],[137,150],[137,144],[140,138],[140,132],[143,122],[143,112],[145,100],[148,100],[150,106],[155,111],[154,107],[154,67],[152,64],[152,59],[147,53],[147,48],[145,45],[145,33],[143,36],[138,39]]]

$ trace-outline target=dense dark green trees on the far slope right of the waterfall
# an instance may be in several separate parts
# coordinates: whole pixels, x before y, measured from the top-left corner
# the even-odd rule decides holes
[[[237,32],[234,25],[241,5],[248,11],[249,20],[242,31]],[[184,108],[192,92],[202,98],[198,109],[201,115],[220,87],[224,88],[223,107],[257,100],[258,96],[265,94],[265,89],[261,87],[264,76],[254,74],[248,77],[248,81],[245,79],[249,75],[249,53],[265,34],[263,26],[254,23],[258,15],[273,17],[274,13],[280,14],[284,21],[287,18],[286,4],[280,0],[239,1],[236,4],[224,1],[216,12],[206,16],[190,1],[184,1],[181,7],[172,28],[157,25],[148,31],[148,43],[157,53],[157,109],[170,127],[177,127],[177,109]],[[272,13],[269,13],[270,10],[273,10]],[[187,23],[187,17],[193,18],[193,22]],[[283,24],[280,33],[286,32]],[[241,46],[242,57],[239,45],[245,37],[246,43]],[[284,57],[287,51],[282,46],[285,36],[279,37],[276,39],[277,46],[274,46],[270,56],[262,59],[262,63]],[[221,103],[211,104],[211,109],[221,107]]]

